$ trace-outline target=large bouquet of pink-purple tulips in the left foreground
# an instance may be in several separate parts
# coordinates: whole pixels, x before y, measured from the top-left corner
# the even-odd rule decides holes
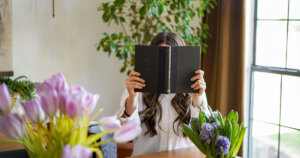
[[[25,116],[12,113],[13,99],[5,83],[0,86],[0,133],[25,147],[31,158],[89,158],[92,152],[102,157],[99,146],[110,141],[127,142],[141,132],[135,122],[121,126],[116,116],[94,122],[89,112],[95,109],[99,95],[82,86],[68,85],[59,73],[36,83],[38,97],[22,102]],[[98,124],[103,131],[88,136],[88,127]],[[34,125],[34,126],[33,126]],[[97,142],[102,136],[114,133],[113,138]]]

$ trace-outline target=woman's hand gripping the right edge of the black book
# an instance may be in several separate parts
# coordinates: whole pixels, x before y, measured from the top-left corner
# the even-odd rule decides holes
[[[195,76],[191,78],[191,81],[196,81],[191,85],[191,88],[194,90],[198,90],[198,93],[191,93],[191,97],[193,99],[194,105],[202,105],[203,101],[201,100],[202,94],[205,92],[206,89],[206,83],[204,81],[204,71],[202,70],[196,70]]]

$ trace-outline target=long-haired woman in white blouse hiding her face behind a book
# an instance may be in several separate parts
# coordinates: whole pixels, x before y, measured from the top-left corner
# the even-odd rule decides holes
[[[175,33],[162,32],[154,37],[151,45],[184,46],[185,43]],[[191,78],[195,81],[191,88],[199,90],[198,93],[155,94],[134,92],[134,89],[145,87],[147,82],[139,77],[138,72],[129,74],[118,116],[122,122],[135,120],[141,124],[142,134],[133,141],[132,155],[193,146],[179,128],[183,123],[189,124],[191,117],[198,116],[198,106],[207,111],[203,75],[203,71],[197,70]]]

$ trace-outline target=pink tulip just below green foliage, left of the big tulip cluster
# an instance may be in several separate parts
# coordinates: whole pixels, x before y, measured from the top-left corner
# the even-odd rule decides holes
[[[27,118],[33,123],[37,123],[45,119],[45,114],[38,98],[22,102],[21,104],[25,110]]]

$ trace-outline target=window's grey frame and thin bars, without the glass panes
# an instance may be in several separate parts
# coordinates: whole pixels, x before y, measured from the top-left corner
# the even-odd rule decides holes
[[[261,122],[261,123],[267,123],[269,125],[276,125],[278,126],[278,150],[277,155],[278,158],[280,157],[280,130],[281,127],[293,129],[296,131],[300,131],[298,128],[293,128],[289,126],[285,126],[281,124],[281,106],[282,106],[282,78],[283,75],[286,76],[295,76],[300,77],[300,69],[290,69],[290,68],[280,68],[280,67],[271,67],[271,66],[262,66],[256,64],[256,37],[257,37],[257,22],[258,21],[287,21],[287,29],[286,29],[286,44],[285,44],[285,67],[287,67],[287,55],[288,55],[288,37],[289,37],[289,22],[290,21],[300,21],[300,19],[290,19],[290,0],[287,0],[288,2],[288,14],[287,19],[258,19],[257,18],[257,8],[258,8],[258,0],[255,0],[254,2],[254,16],[253,16],[253,40],[252,40],[252,62],[251,62],[251,68],[250,68],[250,87],[249,87],[249,111],[248,111],[248,146],[247,146],[247,157],[252,157],[252,130],[253,130],[253,121]],[[264,72],[264,73],[271,73],[271,74],[279,74],[280,75],[280,109],[279,109],[279,123],[271,123],[266,122],[262,120],[256,120],[253,118],[253,96],[254,96],[254,72]]]

